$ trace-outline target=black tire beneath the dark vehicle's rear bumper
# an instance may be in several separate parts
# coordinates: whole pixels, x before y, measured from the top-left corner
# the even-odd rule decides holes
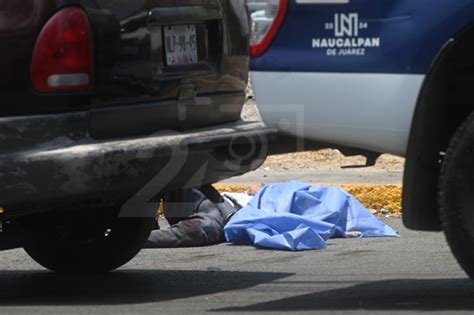
[[[107,212],[49,214],[31,220],[24,249],[40,265],[58,273],[116,269],[140,251],[155,219],[117,218]]]

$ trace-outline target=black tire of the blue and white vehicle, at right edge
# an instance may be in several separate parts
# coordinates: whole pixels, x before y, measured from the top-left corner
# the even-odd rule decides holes
[[[459,127],[446,152],[440,173],[439,205],[451,250],[474,279],[474,113]]]

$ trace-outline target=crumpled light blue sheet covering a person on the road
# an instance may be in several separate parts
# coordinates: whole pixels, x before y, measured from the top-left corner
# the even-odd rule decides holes
[[[323,249],[350,232],[398,236],[344,190],[297,181],[264,187],[224,228],[230,243],[292,251]]]

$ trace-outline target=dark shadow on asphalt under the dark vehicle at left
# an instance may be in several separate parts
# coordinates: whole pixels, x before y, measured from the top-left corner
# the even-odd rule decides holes
[[[118,305],[242,290],[289,273],[120,270],[103,275],[0,271],[0,305]]]

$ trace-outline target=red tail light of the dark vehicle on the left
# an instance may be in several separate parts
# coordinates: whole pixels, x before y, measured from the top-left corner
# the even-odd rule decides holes
[[[92,88],[92,32],[87,14],[69,7],[43,27],[33,52],[31,79],[41,93],[86,92]]]

